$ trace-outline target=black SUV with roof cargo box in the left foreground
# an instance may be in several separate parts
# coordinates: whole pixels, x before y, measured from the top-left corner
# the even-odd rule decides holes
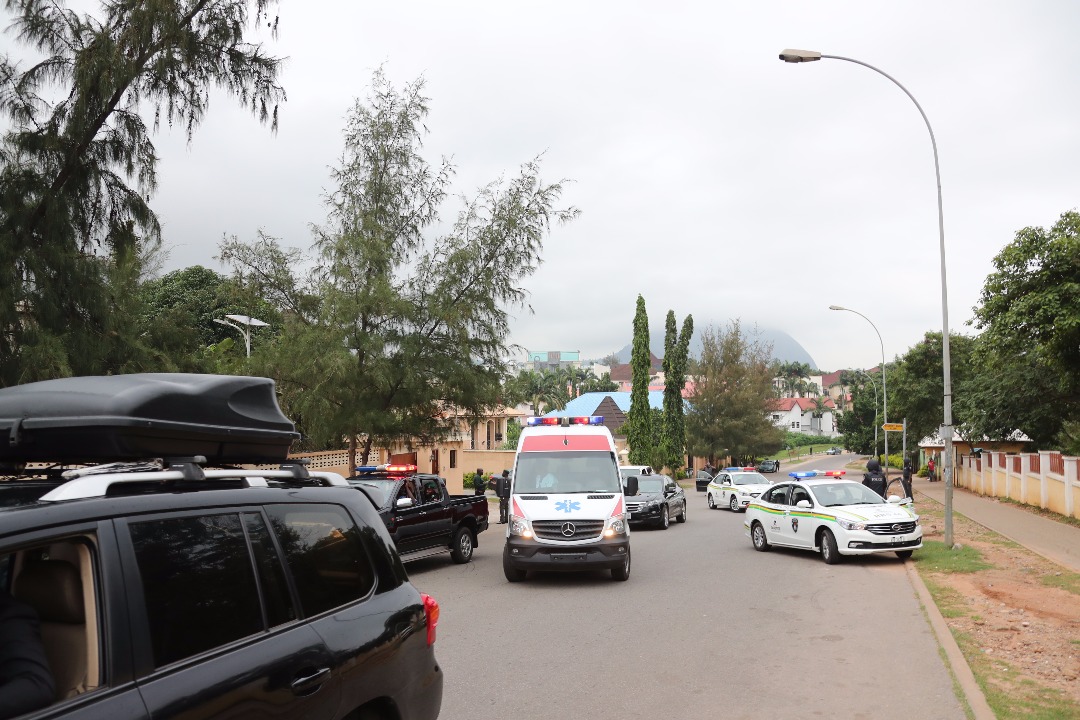
[[[31,383],[0,434],[0,593],[55,685],[33,718],[438,716],[438,606],[341,476],[280,463],[272,381]]]

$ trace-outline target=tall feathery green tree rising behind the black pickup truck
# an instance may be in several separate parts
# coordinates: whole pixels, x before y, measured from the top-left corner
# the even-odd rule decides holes
[[[508,309],[527,307],[522,283],[544,235],[577,214],[556,208],[563,185],[531,161],[443,222],[454,167],[420,152],[428,112],[422,80],[397,90],[375,73],[347,120],[311,273],[273,239],[221,247],[284,316],[262,362],[315,445],[427,443],[450,429],[450,408],[480,417],[497,405]]]

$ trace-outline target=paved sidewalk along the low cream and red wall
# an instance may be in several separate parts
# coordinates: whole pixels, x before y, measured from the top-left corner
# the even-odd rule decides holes
[[[913,478],[912,491],[945,504],[945,483]],[[976,494],[953,490],[953,512],[1004,535],[1072,572],[1080,572],[1080,528],[1035,515],[1025,510]]]

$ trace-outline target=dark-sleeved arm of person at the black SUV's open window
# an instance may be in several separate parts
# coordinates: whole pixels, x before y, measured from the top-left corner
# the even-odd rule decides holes
[[[45,707],[53,694],[37,614],[0,588],[0,720]]]

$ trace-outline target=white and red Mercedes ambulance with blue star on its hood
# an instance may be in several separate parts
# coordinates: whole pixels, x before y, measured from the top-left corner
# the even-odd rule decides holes
[[[610,570],[630,578],[630,524],[615,440],[599,416],[528,418],[517,441],[502,570]],[[637,493],[637,477],[626,478]]]

